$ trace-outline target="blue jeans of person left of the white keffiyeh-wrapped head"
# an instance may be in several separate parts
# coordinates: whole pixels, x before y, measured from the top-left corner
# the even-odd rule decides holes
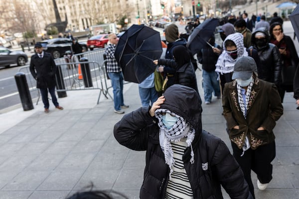
[[[204,100],[211,102],[212,93],[214,91],[214,96],[220,97],[220,86],[219,81],[217,81],[217,73],[215,71],[207,72],[202,70],[202,87],[204,91]]]

